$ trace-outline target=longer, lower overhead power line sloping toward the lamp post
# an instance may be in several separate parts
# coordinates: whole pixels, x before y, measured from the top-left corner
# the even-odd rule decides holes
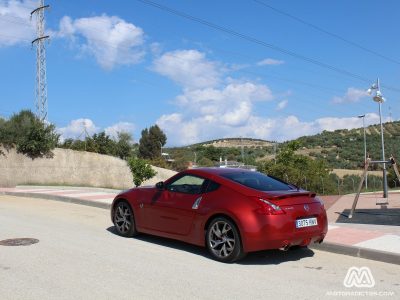
[[[186,14],[184,12],[172,9],[170,7],[158,4],[156,2],[149,1],[149,0],[136,0],[136,1],[142,2],[143,4],[146,4],[148,6],[153,6],[155,8],[160,9],[160,10],[163,10],[163,11],[169,12],[171,14],[177,15],[179,17],[188,19],[190,21],[197,22],[199,24],[205,25],[205,26],[210,27],[212,29],[215,29],[215,30],[218,30],[218,31],[221,31],[221,32],[225,32],[225,33],[228,33],[230,35],[239,37],[239,38],[241,38],[243,40],[246,40],[246,41],[254,43],[254,44],[258,44],[258,45],[263,46],[265,48],[269,48],[269,49],[284,53],[286,55],[289,55],[289,56],[292,56],[294,58],[303,60],[305,62],[314,64],[316,66],[319,66],[319,67],[322,67],[322,68],[325,68],[325,69],[329,69],[331,71],[337,72],[339,74],[342,74],[342,75],[345,75],[345,76],[348,76],[348,77],[353,77],[353,78],[358,79],[360,81],[363,81],[365,83],[370,84],[372,82],[372,80],[370,80],[368,78],[365,78],[365,77],[362,77],[362,76],[360,76],[358,74],[352,73],[350,71],[347,71],[347,70],[344,70],[344,69],[329,65],[327,63],[318,61],[318,60],[313,59],[313,58],[306,57],[304,55],[298,54],[298,53],[293,52],[291,50],[287,50],[287,49],[278,47],[276,45],[273,45],[273,44],[264,42],[262,40],[259,40],[259,39],[255,38],[255,37],[252,37],[252,36],[237,32],[237,31],[235,31],[235,30],[233,30],[231,28],[227,28],[227,27],[224,27],[224,26],[217,25],[215,23],[209,22],[209,21],[201,19],[201,18],[194,17],[192,15],[189,15],[189,14]],[[400,89],[395,88],[395,87],[385,86],[385,88],[389,89],[389,90],[392,90],[392,91],[400,92]]]

